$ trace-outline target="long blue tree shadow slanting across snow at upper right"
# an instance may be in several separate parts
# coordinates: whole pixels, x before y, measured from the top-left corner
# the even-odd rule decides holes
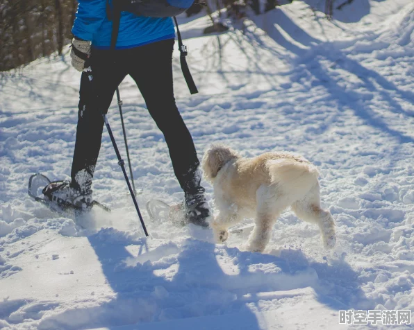
[[[318,83],[314,82],[313,87],[323,85],[331,94],[332,99],[338,101],[338,115],[351,108],[356,116],[363,119],[367,125],[371,125],[376,130],[386,132],[390,137],[398,139],[401,143],[414,142],[413,137],[399,132],[396,128],[392,128],[381,114],[373,110],[374,105],[370,103],[370,98],[374,94],[379,95],[388,104],[388,109],[380,109],[381,112],[388,111],[412,118],[414,116],[414,110],[404,110],[399,100],[406,100],[408,103],[413,104],[413,92],[400,89],[397,85],[381,76],[381,74],[367,69],[358,61],[349,58],[349,56],[341,51],[340,45],[338,46],[336,42],[322,42],[311,37],[311,35],[286,16],[282,10],[276,10],[272,15],[274,19],[270,21],[271,24],[265,24],[265,21],[259,21],[258,27],[266,31],[267,35],[272,37],[277,44],[283,46],[290,53],[297,55],[295,58],[290,59],[292,67],[294,67],[290,71],[290,76],[309,74],[313,78],[316,78]],[[274,24],[274,21],[277,24]],[[279,31],[280,29],[283,29],[284,33],[288,34],[291,40],[295,40],[295,44],[288,40]],[[247,34],[245,37],[249,38],[252,42],[260,42],[260,37],[254,35],[254,33]],[[236,43],[238,42],[237,39],[233,40]],[[303,45],[303,47],[299,45]],[[240,48],[242,48],[241,42]],[[252,62],[258,62],[260,61],[260,57],[257,56],[251,60]],[[323,61],[331,62],[331,71],[324,67],[322,64]],[[306,64],[306,71],[304,71],[303,64]],[[336,69],[342,69],[351,73],[351,75],[357,76],[362,82],[362,88],[360,89],[363,89],[365,93],[361,94],[358,90],[347,89],[339,85],[338,83],[340,81],[336,80],[335,76],[332,75],[332,72],[335,72]],[[274,86],[275,89],[279,89],[279,86]],[[334,125],[334,122],[331,124]],[[324,129],[321,132],[328,128],[329,125],[324,125]]]

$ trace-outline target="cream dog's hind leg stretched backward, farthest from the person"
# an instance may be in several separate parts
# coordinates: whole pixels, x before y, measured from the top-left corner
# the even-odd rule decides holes
[[[320,207],[319,185],[311,189],[303,199],[294,202],[292,211],[298,218],[319,226],[325,248],[331,249],[335,246],[335,222],[331,213]]]

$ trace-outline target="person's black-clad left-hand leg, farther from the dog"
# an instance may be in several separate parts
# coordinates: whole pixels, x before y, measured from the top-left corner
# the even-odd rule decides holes
[[[101,148],[104,119],[113,94],[126,76],[122,61],[109,51],[92,50],[92,82],[88,73],[82,73],[78,125],[72,162],[71,186],[88,191]],[[117,56],[117,58],[119,58]]]

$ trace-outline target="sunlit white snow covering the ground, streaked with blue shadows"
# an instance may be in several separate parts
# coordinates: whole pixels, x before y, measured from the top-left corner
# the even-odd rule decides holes
[[[182,193],[129,78],[120,92],[150,237],[106,132],[93,189],[113,213],[96,211],[88,229],[51,213],[27,182],[69,178],[79,73],[67,54],[43,58],[0,75],[0,328],[365,329],[338,324],[338,311],[414,311],[414,3],[356,0],[329,22],[323,2],[220,35],[201,35],[205,17],[182,19],[200,92],[190,96],[178,52],[174,87],[200,157],[220,141],[317,164],[337,247],[290,211],[263,254],[242,250],[248,232],[215,245],[209,229],[150,223],[147,200]],[[115,99],[108,119],[124,154]]]

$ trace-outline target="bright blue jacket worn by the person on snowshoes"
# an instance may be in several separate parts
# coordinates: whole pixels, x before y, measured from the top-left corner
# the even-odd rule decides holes
[[[112,5],[112,0],[109,1]],[[72,33],[91,40],[94,48],[109,49],[112,21],[106,17],[106,0],[78,0],[78,3]],[[171,17],[140,17],[122,12],[116,48],[133,48],[174,37]]]

